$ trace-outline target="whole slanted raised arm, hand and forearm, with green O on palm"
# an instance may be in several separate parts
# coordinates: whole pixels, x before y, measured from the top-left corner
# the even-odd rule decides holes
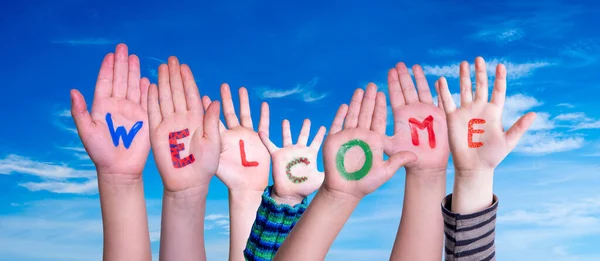
[[[340,107],[323,147],[325,182],[274,260],[323,260],[359,201],[416,160],[410,152],[383,160],[386,110],[374,84]]]

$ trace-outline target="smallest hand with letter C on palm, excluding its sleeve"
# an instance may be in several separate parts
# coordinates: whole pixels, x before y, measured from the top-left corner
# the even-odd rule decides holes
[[[277,203],[294,206],[317,190],[323,183],[323,172],[317,170],[317,154],[325,136],[321,126],[310,146],[306,146],[310,134],[310,120],[304,120],[296,145],[292,144],[290,122],[282,123],[283,148],[278,148],[266,133],[258,135],[273,159],[272,197]]]

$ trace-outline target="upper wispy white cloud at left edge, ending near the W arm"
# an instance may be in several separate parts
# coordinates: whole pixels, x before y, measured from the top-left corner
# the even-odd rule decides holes
[[[64,164],[34,161],[19,155],[8,155],[0,159],[0,174],[20,173],[41,178],[68,179],[96,176],[94,170],[78,170]]]

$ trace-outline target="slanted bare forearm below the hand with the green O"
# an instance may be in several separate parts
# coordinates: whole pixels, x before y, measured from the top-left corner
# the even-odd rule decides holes
[[[358,202],[321,187],[273,260],[324,260]]]

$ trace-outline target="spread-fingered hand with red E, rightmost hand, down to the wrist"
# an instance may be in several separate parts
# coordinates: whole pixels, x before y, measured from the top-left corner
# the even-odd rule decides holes
[[[459,173],[489,172],[517,145],[519,139],[535,120],[535,113],[521,117],[507,132],[502,128],[502,110],[506,97],[506,68],[496,67],[496,80],[491,102],[488,102],[488,79],[485,61],[475,60],[475,100],[471,90],[469,64],[460,64],[461,106],[456,108],[448,83],[439,80],[450,135],[454,167]]]

